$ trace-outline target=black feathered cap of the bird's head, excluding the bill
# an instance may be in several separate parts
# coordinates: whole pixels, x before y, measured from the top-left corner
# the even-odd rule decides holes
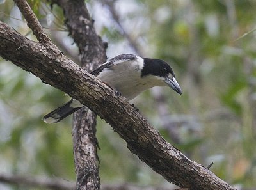
[[[141,77],[147,75],[154,75],[159,77],[167,77],[169,74],[172,74],[175,77],[174,72],[170,65],[160,59],[144,59],[144,66],[141,70]]]

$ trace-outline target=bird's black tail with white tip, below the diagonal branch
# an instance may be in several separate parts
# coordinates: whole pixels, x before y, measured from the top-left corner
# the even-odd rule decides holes
[[[58,123],[70,114],[74,113],[81,107],[84,107],[83,104],[81,104],[79,101],[72,99],[66,104],[58,107],[57,109],[54,109],[54,111],[51,111],[47,115],[44,116],[44,122],[45,123]]]

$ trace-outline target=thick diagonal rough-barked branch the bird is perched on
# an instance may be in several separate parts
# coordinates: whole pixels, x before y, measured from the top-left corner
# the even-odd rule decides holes
[[[74,64],[58,49],[46,49],[0,22],[0,56],[95,111],[127,142],[132,153],[168,182],[199,190],[234,189],[166,142],[115,90]]]

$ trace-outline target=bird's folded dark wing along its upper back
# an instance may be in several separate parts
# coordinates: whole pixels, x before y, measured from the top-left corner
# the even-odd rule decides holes
[[[101,72],[104,68],[109,68],[112,65],[115,65],[116,61],[128,61],[128,60],[135,60],[137,57],[132,54],[122,54],[119,56],[115,56],[115,58],[109,59],[106,63],[100,65],[99,67],[95,68],[90,74],[97,76],[99,72]]]

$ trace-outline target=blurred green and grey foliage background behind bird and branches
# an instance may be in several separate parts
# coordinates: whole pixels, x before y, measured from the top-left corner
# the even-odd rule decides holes
[[[100,2],[88,1],[88,8],[98,33],[109,43],[108,57],[136,54],[108,7]],[[65,28],[60,8],[51,10],[44,1],[29,4],[44,26]],[[146,91],[133,101],[141,114],[190,159],[204,166],[214,162],[211,170],[223,180],[256,187],[256,45],[252,31],[256,1],[134,0],[115,1],[114,5],[122,28],[143,55],[170,63],[184,91],[178,96],[168,88],[159,90],[167,107],[164,116],[154,90]],[[49,14],[54,15],[49,17],[51,22]],[[0,20],[20,33],[28,33],[24,22],[12,19],[22,20],[12,1],[0,4],[0,15]],[[64,37],[68,33],[47,33],[52,38],[63,36],[58,44],[68,49],[68,56],[78,54]],[[4,60],[0,63],[0,97],[0,172],[74,180],[72,117],[55,125],[42,122],[45,113],[69,97]],[[170,135],[173,130],[178,141]],[[102,183],[167,183],[132,155],[100,119],[97,137]]]

